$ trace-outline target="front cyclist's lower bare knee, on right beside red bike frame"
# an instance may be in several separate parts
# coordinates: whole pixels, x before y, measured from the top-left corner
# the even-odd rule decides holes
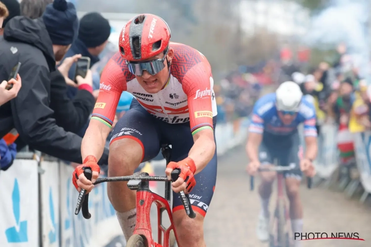
[[[178,210],[173,213],[173,220],[182,246],[203,242],[204,217],[201,214],[196,212],[196,217],[191,219],[186,215],[185,210]],[[192,236],[192,238],[189,238],[189,236]],[[191,242],[188,244],[188,241]]]

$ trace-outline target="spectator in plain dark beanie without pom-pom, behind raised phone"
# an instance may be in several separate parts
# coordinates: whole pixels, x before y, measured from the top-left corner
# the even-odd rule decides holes
[[[111,26],[107,19],[96,12],[87,13],[80,20],[78,38],[67,51],[65,58],[81,54],[90,58],[90,67],[92,67],[99,61],[98,55],[107,45],[110,34]],[[73,80],[74,76],[75,67],[71,67],[68,77]],[[69,98],[73,98],[76,93],[76,88],[69,87]]]

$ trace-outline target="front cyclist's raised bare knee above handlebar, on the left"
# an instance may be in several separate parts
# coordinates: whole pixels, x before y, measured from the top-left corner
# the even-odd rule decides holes
[[[109,147],[108,176],[132,175],[141,162],[141,145],[129,138],[116,140]]]

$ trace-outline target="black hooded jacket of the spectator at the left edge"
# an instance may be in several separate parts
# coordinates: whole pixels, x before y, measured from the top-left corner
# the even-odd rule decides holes
[[[0,107],[0,138],[16,128],[18,149],[27,144],[56,158],[81,164],[82,138],[57,126],[49,108],[50,72],[55,71],[55,60],[42,19],[12,18],[0,37],[0,58],[1,81],[8,79],[18,62],[22,63],[18,96]],[[107,159],[105,150],[100,164],[107,164]]]

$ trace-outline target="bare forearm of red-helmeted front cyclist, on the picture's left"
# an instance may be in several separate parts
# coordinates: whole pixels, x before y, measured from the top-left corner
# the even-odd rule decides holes
[[[83,161],[89,155],[93,155],[97,161],[101,158],[107,136],[98,126],[89,124],[81,144]]]

